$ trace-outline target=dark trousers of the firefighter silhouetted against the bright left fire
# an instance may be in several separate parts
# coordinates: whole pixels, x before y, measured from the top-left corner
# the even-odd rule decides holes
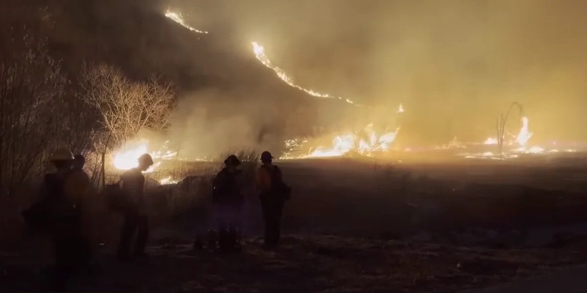
[[[120,231],[120,246],[118,250],[119,257],[130,255],[130,246],[137,232],[137,241],[134,246],[134,254],[144,254],[147,239],[149,239],[149,223],[147,216],[137,212],[124,214],[124,223]]]

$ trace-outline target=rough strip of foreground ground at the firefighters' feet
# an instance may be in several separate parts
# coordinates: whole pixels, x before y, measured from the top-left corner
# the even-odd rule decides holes
[[[150,247],[151,257],[97,261],[73,291],[322,292],[397,290],[452,292],[541,274],[587,261],[587,251],[465,248],[433,243],[335,236],[284,238],[276,252],[248,240],[239,254],[194,251],[189,244]],[[2,291],[42,291],[42,274],[2,255]]]

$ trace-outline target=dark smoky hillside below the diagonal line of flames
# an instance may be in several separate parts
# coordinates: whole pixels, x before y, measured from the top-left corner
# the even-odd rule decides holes
[[[84,63],[109,63],[135,80],[162,76],[177,86],[188,113],[199,103],[207,108],[207,119],[248,117],[246,124],[254,131],[276,134],[278,141],[325,123],[318,121],[321,112],[356,109],[340,101],[319,101],[284,83],[255,58],[251,40],[230,29],[195,33],[166,18],[163,9],[137,2],[16,0],[9,8],[3,5],[8,13],[2,14],[12,25],[22,19],[39,25],[72,84]]]

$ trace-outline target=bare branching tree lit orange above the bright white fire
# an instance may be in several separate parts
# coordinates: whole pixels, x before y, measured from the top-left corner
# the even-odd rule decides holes
[[[123,144],[144,129],[167,127],[174,107],[171,85],[153,77],[135,82],[116,67],[85,66],[81,80],[85,100],[96,107],[114,144]]]

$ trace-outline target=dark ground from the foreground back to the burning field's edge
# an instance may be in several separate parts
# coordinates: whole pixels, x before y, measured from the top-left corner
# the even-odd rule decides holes
[[[453,292],[587,263],[578,234],[527,241],[535,229],[587,223],[579,159],[277,164],[294,190],[281,250],[259,248],[261,214],[249,195],[242,253],[192,250],[203,225],[157,227],[148,260],[119,264],[106,249],[72,289]],[[41,289],[38,264],[10,252],[0,260],[0,291]]]

